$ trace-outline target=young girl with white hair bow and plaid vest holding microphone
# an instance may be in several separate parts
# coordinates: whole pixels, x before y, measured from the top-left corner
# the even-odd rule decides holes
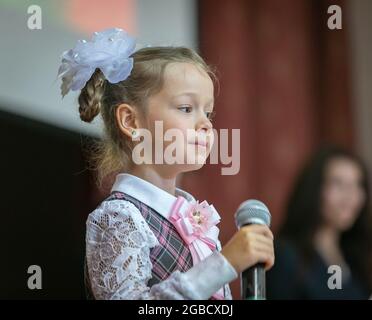
[[[266,226],[247,226],[221,250],[218,213],[176,187],[177,176],[201,168],[212,146],[213,73],[188,48],[134,48],[121,29],[95,33],[63,54],[59,70],[63,95],[81,89],[81,119],[102,115],[99,180],[118,173],[87,219],[90,292],[95,299],[231,299],[228,283],[238,273],[258,262],[271,268],[273,236]],[[141,130],[151,133],[151,159],[159,156],[156,143],[169,147],[155,135],[159,122],[182,134],[177,151],[197,161],[136,163]]]

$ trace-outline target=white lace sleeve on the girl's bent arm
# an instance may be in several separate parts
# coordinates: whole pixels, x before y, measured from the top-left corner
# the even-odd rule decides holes
[[[202,265],[191,268],[191,272],[175,271],[166,280],[149,288],[147,283],[152,270],[150,249],[156,245],[159,245],[158,240],[132,203],[125,200],[104,201],[87,220],[87,265],[95,298],[205,299],[217,291],[219,283],[208,288],[205,285],[198,287],[194,278],[203,276],[197,270],[205,268]],[[213,257],[206,259],[217,266],[219,276],[221,263],[226,264],[221,257],[219,254],[214,257],[215,261],[212,261]],[[221,281],[221,277],[219,279]]]

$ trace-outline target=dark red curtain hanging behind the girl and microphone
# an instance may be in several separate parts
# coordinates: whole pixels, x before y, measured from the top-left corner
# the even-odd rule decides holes
[[[241,130],[240,172],[223,176],[207,164],[182,186],[215,205],[222,244],[242,201],[265,202],[275,231],[310,152],[324,142],[353,146],[347,21],[327,29],[331,4],[344,9],[344,1],[199,1],[200,52],[217,67],[221,87],[214,125]],[[232,290],[238,299],[238,281]]]

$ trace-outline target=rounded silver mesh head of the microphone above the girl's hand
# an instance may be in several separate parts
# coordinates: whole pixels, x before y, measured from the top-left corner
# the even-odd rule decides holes
[[[270,226],[270,211],[261,201],[253,199],[244,201],[235,213],[235,223],[238,229],[247,224]]]

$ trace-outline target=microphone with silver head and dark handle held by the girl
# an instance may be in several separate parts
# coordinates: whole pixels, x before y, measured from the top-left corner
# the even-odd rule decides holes
[[[244,201],[235,213],[238,229],[250,224],[270,226],[269,209],[258,200]],[[241,274],[241,296],[243,300],[266,300],[265,266],[258,263]]]

